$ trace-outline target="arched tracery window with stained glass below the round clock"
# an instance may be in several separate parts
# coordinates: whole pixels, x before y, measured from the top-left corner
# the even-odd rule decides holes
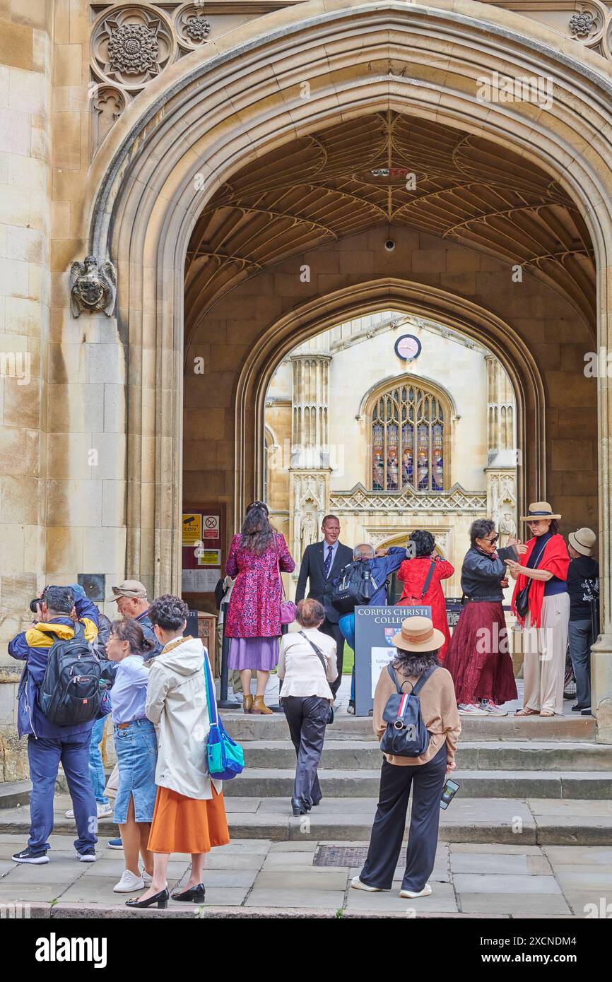
[[[444,490],[444,409],[432,392],[394,385],[372,411],[372,490]]]

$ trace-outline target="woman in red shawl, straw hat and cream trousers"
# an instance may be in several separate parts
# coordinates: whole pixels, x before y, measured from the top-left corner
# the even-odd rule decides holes
[[[570,621],[567,589],[570,557],[557,518],[547,501],[529,505],[531,538],[522,564],[506,560],[517,582],[512,610],[524,631],[523,709],[515,716],[554,716],[563,713],[563,681]],[[527,613],[517,610],[521,591],[529,586]]]

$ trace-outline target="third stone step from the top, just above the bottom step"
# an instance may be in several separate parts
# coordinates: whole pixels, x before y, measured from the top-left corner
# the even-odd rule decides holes
[[[380,769],[319,770],[323,794],[331,797],[373,797],[378,794]],[[247,768],[224,785],[226,797],[291,797],[295,770]],[[538,797],[612,799],[611,771],[454,771],[463,797]],[[612,815],[612,805],[610,806]]]

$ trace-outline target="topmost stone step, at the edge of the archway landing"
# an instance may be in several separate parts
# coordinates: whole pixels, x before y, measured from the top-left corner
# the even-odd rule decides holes
[[[223,724],[234,739],[242,743],[251,739],[288,739],[289,727],[283,713],[253,716],[234,710],[221,712]],[[595,742],[595,721],[592,716],[463,716],[463,740],[538,740]],[[327,736],[339,739],[372,739],[370,717],[336,714]]]

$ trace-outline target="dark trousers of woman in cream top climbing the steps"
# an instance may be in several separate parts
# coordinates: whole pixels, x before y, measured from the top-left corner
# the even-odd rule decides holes
[[[329,700],[318,695],[287,695],[283,709],[298,757],[293,796],[307,805],[318,804],[323,795],[316,770],[323,752]]]

